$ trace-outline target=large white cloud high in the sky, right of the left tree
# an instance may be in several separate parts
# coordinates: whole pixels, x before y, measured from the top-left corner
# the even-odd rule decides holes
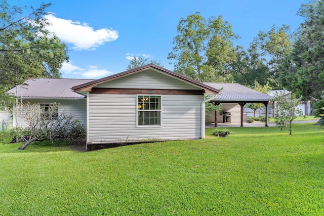
[[[74,50],[95,50],[105,42],[111,42],[118,38],[118,31],[108,28],[94,30],[87,23],[74,22],[55,17],[53,14],[45,16],[52,25],[48,30],[64,42],[73,44]]]

